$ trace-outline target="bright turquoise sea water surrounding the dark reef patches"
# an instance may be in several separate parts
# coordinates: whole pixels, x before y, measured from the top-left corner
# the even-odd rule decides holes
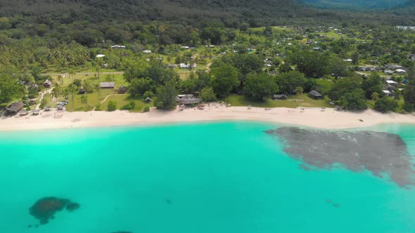
[[[222,122],[0,133],[0,232],[415,232],[415,189],[369,172],[305,171],[264,133]],[[402,136],[415,126],[372,128]],[[81,205],[39,228],[42,197]],[[336,208],[331,199],[339,204]]]

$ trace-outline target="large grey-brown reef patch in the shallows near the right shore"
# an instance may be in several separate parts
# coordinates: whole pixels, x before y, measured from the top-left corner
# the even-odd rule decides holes
[[[375,131],[322,131],[281,127],[266,131],[285,144],[284,151],[302,161],[303,169],[331,169],[343,166],[351,171],[382,174],[401,187],[414,185],[407,145],[400,135]],[[337,206],[336,206],[337,207]]]

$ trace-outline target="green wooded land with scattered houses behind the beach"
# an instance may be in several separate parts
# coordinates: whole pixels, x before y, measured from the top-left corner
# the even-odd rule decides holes
[[[30,109],[29,100],[44,107],[65,98],[68,110],[104,109],[111,92],[99,83],[115,81],[128,95],[113,95],[108,109],[172,109],[181,93],[232,105],[409,112],[415,33],[395,26],[415,25],[411,6],[351,12],[290,0],[1,0],[0,105],[24,100]],[[46,79],[51,96],[40,99]]]

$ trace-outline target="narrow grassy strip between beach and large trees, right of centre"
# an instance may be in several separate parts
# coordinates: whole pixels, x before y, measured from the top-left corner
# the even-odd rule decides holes
[[[292,95],[287,100],[265,100],[265,101],[255,101],[246,98],[244,95],[229,95],[229,98],[226,99],[231,106],[248,106],[252,105],[253,107],[333,107],[328,104],[328,99],[325,100],[314,100],[309,98],[307,94],[302,95]],[[303,101],[294,101],[294,100],[303,100]]]

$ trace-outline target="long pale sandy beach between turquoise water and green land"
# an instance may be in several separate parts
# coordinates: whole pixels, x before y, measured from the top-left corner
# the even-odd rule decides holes
[[[362,119],[362,121],[359,121]],[[414,124],[412,114],[382,114],[371,109],[364,112],[337,112],[335,109],[285,107],[225,107],[210,105],[205,109],[189,108],[179,111],[130,113],[115,112],[41,112],[39,116],[13,116],[0,119],[0,131],[32,131],[102,126],[142,126],[210,121],[260,121],[322,129],[362,128],[378,124]]]

